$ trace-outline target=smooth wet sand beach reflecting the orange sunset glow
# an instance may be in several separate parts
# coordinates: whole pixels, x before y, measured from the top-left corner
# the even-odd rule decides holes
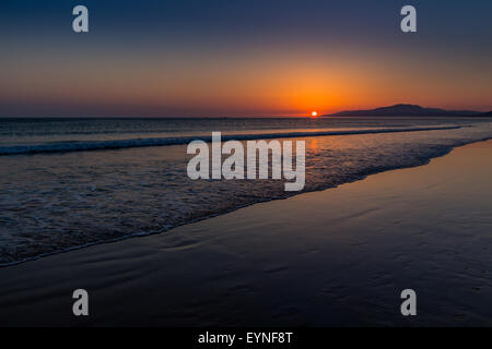
[[[0,325],[492,325],[492,141],[0,268]],[[72,292],[90,316],[72,315]],[[400,314],[417,291],[418,315]]]

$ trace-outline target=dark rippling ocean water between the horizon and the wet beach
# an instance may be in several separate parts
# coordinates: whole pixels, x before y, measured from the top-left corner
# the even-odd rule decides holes
[[[0,265],[152,233],[297,194],[279,180],[187,177],[192,140],[306,142],[319,191],[492,137],[479,118],[0,119]],[[329,214],[329,213],[327,213]]]

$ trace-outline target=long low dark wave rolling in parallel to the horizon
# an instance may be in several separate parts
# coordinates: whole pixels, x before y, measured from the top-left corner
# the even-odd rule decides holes
[[[256,133],[256,134],[229,134],[222,135],[222,141],[249,141],[288,137],[306,137],[324,135],[351,135],[370,133],[396,133],[396,132],[418,132],[436,130],[456,130],[464,127],[432,127],[432,128],[398,128],[398,129],[365,129],[365,130],[343,130],[343,131],[311,131],[311,132],[278,132],[278,133]],[[49,144],[27,144],[1,146],[0,155],[39,154],[39,153],[66,153],[66,152],[87,152],[103,149],[120,149],[147,146],[167,146],[187,144],[196,140],[212,142],[212,136],[179,136],[179,137],[149,137],[132,140],[107,140],[107,141],[73,141],[56,142]]]

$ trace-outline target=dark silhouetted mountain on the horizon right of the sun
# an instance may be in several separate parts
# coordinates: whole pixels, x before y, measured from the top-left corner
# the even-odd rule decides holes
[[[466,117],[479,113],[479,111],[472,110],[445,110],[399,104],[368,110],[345,110],[321,117]]]

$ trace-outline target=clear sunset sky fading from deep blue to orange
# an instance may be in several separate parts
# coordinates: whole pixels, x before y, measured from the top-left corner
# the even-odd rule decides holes
[[[490,0],[5,0],[0,44],[0,117],[492,110]]]

